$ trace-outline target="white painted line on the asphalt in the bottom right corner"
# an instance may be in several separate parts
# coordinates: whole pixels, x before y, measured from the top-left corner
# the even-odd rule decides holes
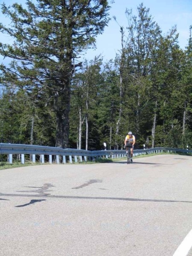
[[[186,256],[192,247],[192,230],[186,235],[173,256]]]

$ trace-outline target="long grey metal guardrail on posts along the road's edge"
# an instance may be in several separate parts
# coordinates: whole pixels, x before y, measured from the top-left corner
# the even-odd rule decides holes
[[[134,156],[140,154],[152,154],[160,153],[163,151],[167,152],[183,152],[183,153],[192,153],[192,150],[185,150],[180,148],[147,148],[147,149],[135,149]],[[73,163],[73,160],[77,163],[78,158],[79,162],[83,160],[87,162],[87,158],[90,161],[95,161],[98,157],[102,158],[121,158],[125,157],[124,150],[99,150],[99,151],[89,151],[83,149],[73,149],[73,148],[56,148],[56,147],[47,147],[47,146],[38,146],[38,145],[24,145],[24,144],[7,144],[0,143],[0,154],[7,154],[8,161],[12,164],[13,154],[20,155],[21,163],[25,163],[25,155],[32,155],[32,162],[35,163],[36,155],[39,155],[41,163],[44,163],[44,156],[49,156],[49,163],[53,163],[52,156],[54,156],[54,162],[60,163],[59,156],[62,157],[62,163],[67,163],[68,159],[70,163]],[[84,158],[84,159],[83,159]]]

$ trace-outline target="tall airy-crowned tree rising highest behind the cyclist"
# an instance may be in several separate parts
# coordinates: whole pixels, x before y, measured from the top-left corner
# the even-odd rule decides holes
[[[154,54],[159,47],[161,30],[153,21],[149,9],[143,3],[137,8],[138,15],[132,15],[132,10],[126,10],[127,27],[127,66],[129,67],[129,83],[127,87],[129,127],[137,134],[137,143],[143,143],[143,123],[151,125],[152,134],[155,132],[156,113],[149,115],[148,104],[157,105],[155,97],[151,97],[151,69],[154,65]],[[151,99],[149,99],[149,95]],[[135,122],[133,122],[135,120]],[[145,127],[147,128],[147,127]]]

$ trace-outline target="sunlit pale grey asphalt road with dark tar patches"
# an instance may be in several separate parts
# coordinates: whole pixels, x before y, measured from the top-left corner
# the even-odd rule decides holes
[[[192,157],[0,171],[0,256],[173,256],[191,229]]]

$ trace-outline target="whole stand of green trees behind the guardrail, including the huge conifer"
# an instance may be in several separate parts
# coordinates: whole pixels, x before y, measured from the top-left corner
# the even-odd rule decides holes
[[[0,43],[12,60],[0,66],[2,143],[120,149],[132,131],[135,148],[192,148],[192,27],[183,50],[177,28],[163,35],[143,3],[137,15],[126,10],[126,28],[109,17],[108,1],[26,3],[2,5],[12,26],[0,31],[15,39]],[[116,57],[78,61],[110,18]]]

